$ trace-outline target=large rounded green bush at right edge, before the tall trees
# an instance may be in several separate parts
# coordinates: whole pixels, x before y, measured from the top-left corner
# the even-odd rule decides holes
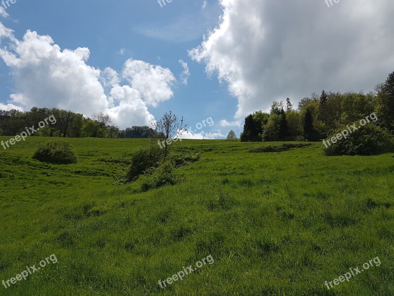
[[[360,124],[357,122],[356,125]],[[350,126],[350,125],[349,125]],[[332,133],[336,137],[338,133],[346,130],[343,126]],[[349,133],[347,139],[338,140],[335,144],[329,142],[331,146],[325,148],[325,154],[333,155],[377,155],[394,151],[394,140],[386,129],[380,128],[372,123],[362,126],[353,133]]]

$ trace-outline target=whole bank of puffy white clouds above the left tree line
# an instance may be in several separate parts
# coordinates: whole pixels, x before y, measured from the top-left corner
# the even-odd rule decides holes
[[[69,109],[85,115],[109,113],[121,128],[150,125],[154,116],[147,105],[157,106],[172,97],[175,80],[169,69],[143,61],[128,60],[122,76],[111,69],[87,64],[88,48],[62,50],[50,36],[27,31],[17,40],[0,23],[0,58],[11,69],[15,82],[10,104],[0,109],[30,109],[33,106]],[[121,86],[122,78],[130,85]]]

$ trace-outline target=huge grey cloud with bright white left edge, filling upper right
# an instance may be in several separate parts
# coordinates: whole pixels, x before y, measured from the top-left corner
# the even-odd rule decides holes
[[[189,55],[228,83],[235,118],[322,89],[369,91],[393,71],[392,0],[220,3],[220,25]]]

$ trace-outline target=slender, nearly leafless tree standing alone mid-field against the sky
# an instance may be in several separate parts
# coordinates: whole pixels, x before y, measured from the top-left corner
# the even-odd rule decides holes
[[[175,114],[172,114],[172,111],[165,113],[159,120],[152,123],[158,137],[164,139],[164,158],[167,157],[170,143],[178,140],[184,132],[187,132],[188,125],[189,123],[184,121],[183,116],[179,119]]]

